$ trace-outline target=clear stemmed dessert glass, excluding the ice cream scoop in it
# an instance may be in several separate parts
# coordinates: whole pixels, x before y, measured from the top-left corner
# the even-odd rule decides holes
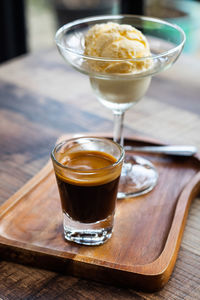
[[[140,30],[147,38],[151,56],[141,58],[105,58],[84,55],[85,35],[95,24],[116,22],[129,24]],[[114,115],[114,141],[123,142],[124,113],[146,93],[153,75],[168,69],[179,57],[185,34],[177,25],[166,21],[134,15],[111,15],[79,19],[61,27],[55,36],[60,54],[76,70],[89,76],[97,99]],[[148,69],[136,73],[105,73],[101,64],[113,63],[147,64]],[[92,65],[97,66],[92,68]],[[118,198],[145,194],[153,189],[158,173],[151,162],[134,155],[126,155],[120,179]]]

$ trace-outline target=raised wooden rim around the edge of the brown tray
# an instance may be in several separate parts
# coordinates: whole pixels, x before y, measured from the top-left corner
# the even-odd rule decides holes
[[[67,134],[61,136],[58,140],[63,140],[65,138],[72,138],[77,136],[105,136],[111,137],[110,134],[105,133],[78,133],[78,134]],[[125,138],[128,140],[134,140],[138,142],[152,143],[158,145],[165,145],[166,143],[162,141],[158,141],[153,138],[145,137],[145,136],[127,136]],[[194,158],[197,162],[200,162],[199,154],[196,154]],[[40,182],[45,180],[45,178],[52,172],[53,166],[51,161],[49,160],[47,164],[35,175],[33,176],[25,185],[23,185],[16,193],[14,193],[8,200],[6,200],[0,206],[0,219],[4,217],[4,215],[13,207],[18,204],[18,202],[23,199],[23,197],[31,192]],[[148,264],[138,264],[138,265],[120,265],[120,268],[116,268],[115,263],[100,261],[98,259],[88,257],[86,258],[84,255],[76,254],[75,262],[80,264],[89,264],[96,265],[98,267],[106,267],[108,269],[114,269],[121,272],[129,272],[132,274],[138,274],[140,276],[150,276],[153,277],[156,281],[161,280],[163,285],[168,281],[173,267],[176,262],[176,258],[178,255],[178,251],[181,244],[182,235],[184,232],[184,227],[188,215],[188,210],[190,207],[190,203],[192,199],[198,194],[200,191],[200,171],[196,173],[196,175],[185,185],[183,190],[181,191],[179,197],[177,198],[177,205],[174,211],[173,220],[171,223],[171,227],[164,245],[164,248],[160,255],[152,262]],[[184,212],[184,213],[183,213]],[[181,214],[181,218],[179,215]],[[11,240],[3,237],[0,233],[0,247],[14,247],[20,250],[30,251],[31,253],[41,253],[48,256],[59,257],[64,260],[73,260],[74,254],[70,254],[66,251],[54,250],[50,248],[45,248],[41,246],[37,246],[34,244],[26,244],[25,242],[20,242],[16,240]],[[38,251],[40,252],[38,252]],[[167,258],[167,259],[166,259]]]

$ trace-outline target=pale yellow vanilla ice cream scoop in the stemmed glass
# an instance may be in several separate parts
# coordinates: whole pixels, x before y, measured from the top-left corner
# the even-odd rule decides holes
[[[131,25],[113,22],[96,24],[85,35],[85,55],[122,59],[122,61],[88,60],[93,71],[105,73],[138,73],[151,66],[151,56],[146,37]],[[123,60],[126,59],[126,60]]]

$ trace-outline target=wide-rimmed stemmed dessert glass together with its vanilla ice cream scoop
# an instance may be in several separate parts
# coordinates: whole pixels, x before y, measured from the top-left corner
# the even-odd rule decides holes
[[[64,25],[55,41],[62,57],[89,76],[97,99],[113,112],[113,139],[123,146],[125,112],[142,99],[152,76],[177,60],[185,34],[177,25],[156,18],[106,15]],[[151,162],[127,155],[118,198],[145,194],[157,179]]]

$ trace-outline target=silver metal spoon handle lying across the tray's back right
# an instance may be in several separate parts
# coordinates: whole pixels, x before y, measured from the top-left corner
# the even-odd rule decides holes
[[[192,156],[197,153],[197,148],[194,146],[124,146],[126,151],[139,151],[149,153],[159,153],[178,156]]]

